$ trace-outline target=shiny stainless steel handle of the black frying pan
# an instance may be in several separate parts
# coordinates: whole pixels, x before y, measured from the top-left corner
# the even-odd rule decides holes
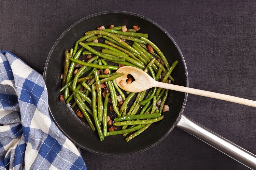
[[[248,168],[256,169],[256,156],[254,154],[216,134],[187,116],[182,115],[176,127],[190,133]]]

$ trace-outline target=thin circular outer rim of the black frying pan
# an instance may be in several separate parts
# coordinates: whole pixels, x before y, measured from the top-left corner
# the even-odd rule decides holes
[[[186,74],[186,80],[185,80],[185,83],[186,83],[186,87],[188,87],[188,72],[187,72],[187,66],[186,66],[186,63],[185,63],[185,60],[184,60],[184,57],[183,57],[183,54],[180,50],[180,48],[177,46],[176,42],[174,41],[174,39],[171,37],[171,35],[165,30],[163,29],[161,26],[159,26],[156,22],[154,22],[153,20],[151,19],[148,19],[142,15],[139,15],[139,14],[136,14],[136,13],[132,13],[132,12],[126,12],[126,11],[104,11],[104,12],[99,12],[99,13],[95,13],[95,14],[92,14],[92,15],[89,15],[89,16],[86,16],[78,21],[76,21],[75,23],[73,23],[67,30],[65,30],[60,36],[59,38],[56,40],[56,42],[54,43],[51,51],[49,52],[48,54],[48,57],[47,57],[47,60],[46,60],[46,63],[45,63],[45,66],[44,66],[44,72],[43,72],[43,79],[45,81],[45,74],[46,74],[46,70],[47,70],[47,66],[48,66],[48,62],[49,62],[49,58],[50,56],[52,55],[53,53],[53,50],[55,49],[56,45],[59,43],[60,39],[70,30],[72,29],[73,27],[75,27],[77,24],[79,24],[80,22],[83,22],[84,20],[88,19],[88,18],[91,18],[91,17],[95,17],[97,15],[102,15],[102,14],[110,14],[110,13],[121,13],[121,14],[128,14],[128,15],[133,15],[133,16],[137,16],[137,17],[140,17],[144,20],[147,20],[149,22],[151,22],[152,24],[154,24],[156,27],[158,27],[161,31],[163,31],[170,39],[171,41],[174,43],[175,47],[177,48],[177,50],[179,51],[180,55],[181,55],[181,58],[182,58],[182,63],[184,65],[184,69],[185,69],[185,74]],[[181,116],[183,114],[183,111],[185,109],[185,105],[186,105],[186,101],[187,101],[187,96],[188,94],[185,93],[185,98],[184,98],[184,101],[183,101],[183,105],[182,105],[182,108],[181,108],[181,111],[177,117],[177,119],[175,120],[175,122],[173,123],[172,127],[167,131],[167,133],[165,133],[163,136],[161,136],[161,138],[159,138],[155,143],[153,143],[153,145],[150,145],[150,146],[147,146],[146,148],[142,148],[138,151],[133,151],[133,152],[126,152],[126,153],[111,153],[111,154],[106,154],[106,153],[101,153],[101,152],[97,152],[95,150],[92,150],[90,148],[86,148],[84,146],[81,146],[79,143],[75,142],[74,140],[72,140],[72,138],[67,134],[65,133],[60,127],[60,125],[58,124],[58,122],[56,121],[56,119],[54,118],[53,114],[52,114],[52,111],[51,111],[51,108],[48,107],[48,110],[49,110],[49,114],[53,120],[53,122],[56,124],[56,126],[59,128],[59,130],[69,139],[71,140],[76,146],[86,150],[86,151],[89,151],[91,153],[95,153],[95,154],[98,154],[98,155],[103,155],[103,156],[129,156],[129,155],[133,155],[133,154],[137,154],[137,153],[140,153],[140,152],[143,152],[143,151],[146,151],[152,147],[154,147],[155,145],[157,145],[159,142],[161,142],[164,138],[166,138],[170,132],[174,129],[174,127],[176,126],[176,124],[180,121],[181,119]]]

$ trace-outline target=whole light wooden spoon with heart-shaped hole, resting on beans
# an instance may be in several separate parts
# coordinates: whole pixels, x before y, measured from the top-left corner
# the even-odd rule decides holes
[[[205,96],[205,97],[210,97],[210,98],[215,98],[220,100],[226,100],[234,103],[256,107],[256,101],[253,101],[253,100],[219,94],[211,91],[199,90],[199,89],[194,89],[189,87],[178,86],[174,84],[158,82],[158,81],[155,81],[146,72],[136,67],[124,66],[124,67],[120,67],[116,72],[124,73],[123,76],[116,79],[116,83],[120,88],[126,91],[140,92],[152,87],[160,87],[160,88],[181,91],[189,94]],[[133,81],[131,84],[126,83],[128,74],[131,74],[135,79],[135,81]]]

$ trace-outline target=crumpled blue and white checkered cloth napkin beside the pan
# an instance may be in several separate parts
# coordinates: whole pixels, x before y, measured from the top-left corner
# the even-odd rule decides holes
[[[0,51],[0,160],[1,170],[86,169],[49,116],[42,75],[8,51]]]

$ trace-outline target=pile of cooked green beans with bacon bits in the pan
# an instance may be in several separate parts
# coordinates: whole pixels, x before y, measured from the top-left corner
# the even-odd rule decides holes
[[[138,33],[135,29],[123,32],[121,26],[92,30],[78,39],[74,48],[65,50],[59,91],[67,104],[74,99],[71,107],[77,105],[82,113],[77,115],[81,119],[85,117],[90,128],[97,130],[101,141],[106,136],[126,136],[133,132],[125,139],[130,141],[164,117],[162,112],[169,90],[153,87],[139,93],[125,92],[115,82],[116,78],[124,75],[115,72],[123,65],[142,69],[156,81],[174,81],[171,73],[178,61],[170,65],[148,37],[150,35]],[[150,50],[150,46],[155,51]],[[108,112],[110,107],[113,110]],[[108,116],[112,117],[111,122],[107,122]]]

